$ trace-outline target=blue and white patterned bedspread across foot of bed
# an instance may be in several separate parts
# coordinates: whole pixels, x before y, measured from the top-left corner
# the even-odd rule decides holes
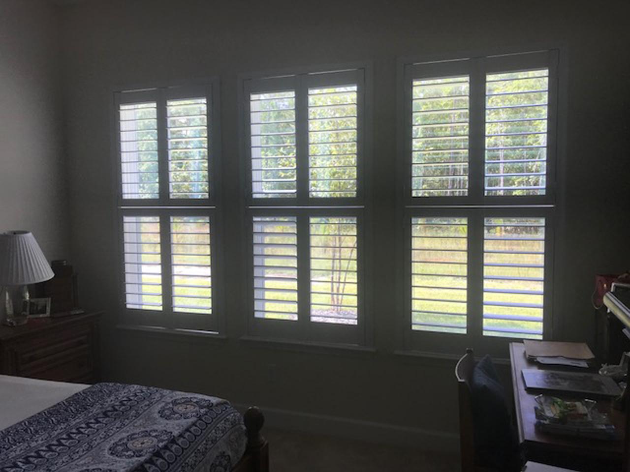
[[[221,398],[100,383],[0,431],[0,471],[227,472],[246,441]]]

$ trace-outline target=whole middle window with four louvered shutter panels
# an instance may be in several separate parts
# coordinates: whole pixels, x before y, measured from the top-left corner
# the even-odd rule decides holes
[[[365,343],[365,69],[244,80],[250,335]]]

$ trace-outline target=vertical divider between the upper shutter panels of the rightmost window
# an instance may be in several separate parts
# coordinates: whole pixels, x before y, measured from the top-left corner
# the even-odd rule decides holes
[[[477,203],[483,201],[484,151],[486,122],[486,81],[483,59],[473,60],[470,72],[470,113],[469,113],[469,196]]]

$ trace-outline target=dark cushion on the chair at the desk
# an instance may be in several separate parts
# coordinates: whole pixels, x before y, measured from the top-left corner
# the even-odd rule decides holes
[[[506,472],[520,470],[517,435],[505,391],[490,356],[477,363],[470,386],[475,463]]]

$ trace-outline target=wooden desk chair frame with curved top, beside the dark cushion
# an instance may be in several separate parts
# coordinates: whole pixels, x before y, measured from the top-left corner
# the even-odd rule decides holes
[[[494,468],[475,464],[473,395],[471,391],[474,366],[473,349],[466,349],[466,354],[455,365],[455,379],[457,379],[457,395],[459,398],[459,448],[462,472],[502,472]],[[523,470],[524,472],[571,472],[569,469],[533,462],[526,463]]]

